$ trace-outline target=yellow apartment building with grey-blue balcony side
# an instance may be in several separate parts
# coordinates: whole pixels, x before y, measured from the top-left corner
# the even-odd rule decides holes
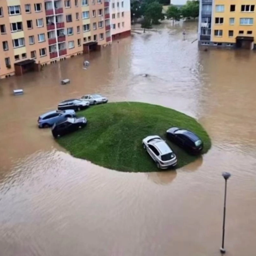
[[[256,49],[255,2],[200,0],[198,44]]]

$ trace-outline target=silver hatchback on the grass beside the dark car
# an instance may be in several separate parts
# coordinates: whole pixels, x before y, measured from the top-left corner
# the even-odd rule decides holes
[[[167,169],[177,164],[177,157],[168,144],[157,135],[148,136],[142,140],[143,148],[156,162],[160,169]]]

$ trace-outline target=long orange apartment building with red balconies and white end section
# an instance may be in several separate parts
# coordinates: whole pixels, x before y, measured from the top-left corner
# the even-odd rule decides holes
[[[0,0],[0,78],[111,44],[130,17],[130,0]]]

